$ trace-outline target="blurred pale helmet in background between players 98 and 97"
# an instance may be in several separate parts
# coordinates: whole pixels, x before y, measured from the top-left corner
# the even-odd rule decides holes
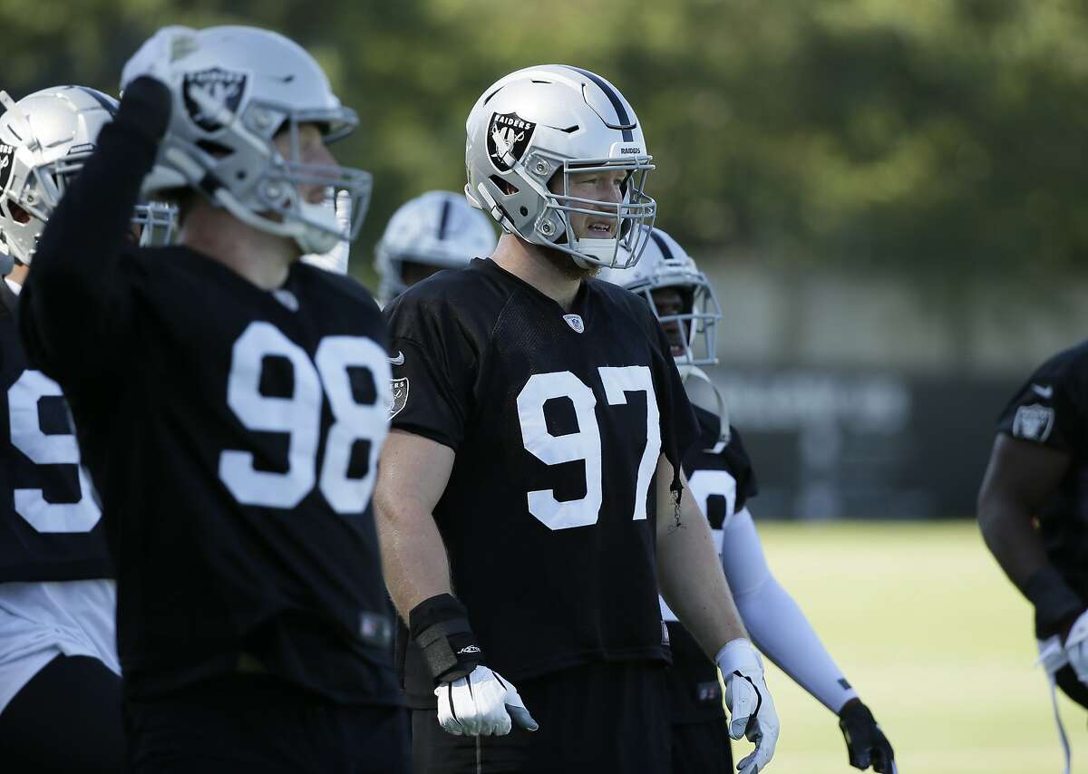
[[[486,215],[460,194],[428,191],[393,213],[374,248],[379,299],[388,303],[408,288],[406,263],[456,269],[494,250],[495,228]]]

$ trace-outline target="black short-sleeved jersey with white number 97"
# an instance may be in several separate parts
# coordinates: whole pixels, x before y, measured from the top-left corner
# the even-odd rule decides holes
[[[593,279],[565,314],[477,260],[385,311],[393,426],[457,453],[434,516],[486,663],[667,659],[653,477],[695,427],[645,301]]]

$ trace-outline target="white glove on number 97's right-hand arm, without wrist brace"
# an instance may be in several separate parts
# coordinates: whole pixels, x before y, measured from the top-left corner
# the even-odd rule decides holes
[[[718,651],[715,662],[726,684],[729,736],[746,736],[755,750],[737,764],[740,774],[767,767],[778,744],[778,713],[763,678],[763,659],[746,639],[734,639]]]

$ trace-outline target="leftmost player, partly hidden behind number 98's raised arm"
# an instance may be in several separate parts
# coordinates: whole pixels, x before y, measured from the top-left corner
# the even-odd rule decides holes
[[[0,750],[8,771],[116,772],[121,667],[102,513],[61,388],[27,365],[16,325],[46,221],[116,102],[82,86],[0,102]]]

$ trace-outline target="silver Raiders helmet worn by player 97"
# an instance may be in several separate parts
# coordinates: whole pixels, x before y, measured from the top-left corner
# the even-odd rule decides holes
[[[562,250],[583,267],[639,261],[648,234],[642,226],[653,225],[657,208],[645,192],[653,157],[615,86],[578,67],[526,67],[483,92],[466,130],[465,194],[505,230]],[[571,196],[571,175],[589,172],[627,173],[622,201]],[[579,238],[574,213],[614,219],[611,237]]]

